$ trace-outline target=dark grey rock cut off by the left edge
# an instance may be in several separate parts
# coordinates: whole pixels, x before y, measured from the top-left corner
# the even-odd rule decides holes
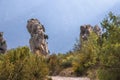
[[[5,53],[7,51],[7,44],[3,38],[3,32],[0,32],[0,53]]]

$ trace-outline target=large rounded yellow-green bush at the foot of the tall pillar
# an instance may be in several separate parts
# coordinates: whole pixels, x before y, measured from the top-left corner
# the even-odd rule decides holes
[[[48,74],[45,62],[28,47],[10,50],[0,61],[0,80],[44,80]]]

